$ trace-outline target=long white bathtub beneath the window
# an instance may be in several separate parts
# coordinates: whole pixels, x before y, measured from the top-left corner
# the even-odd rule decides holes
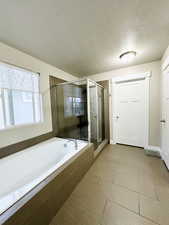
[[[39,190],[43,188],[45,182],[47,184],[52,179],[49,179],[52,174],[59,174],[88,145],[87,142],[78,140],[76,150],[73,142],[64,147],[67,141],[52,138],[0,159],[0,216],[42,181],[43,185]]]

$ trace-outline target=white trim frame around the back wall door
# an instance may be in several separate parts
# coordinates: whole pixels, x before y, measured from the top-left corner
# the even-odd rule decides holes
[[[109,111],[111,112],[110,116],[110,137],[113,139],[110,139],[111,144],[116,144],[116,124],[114,123],[114,116],[116,112],[116,104],[115,104],[115,99],[116,99],[116,86],[118,82],[122,81],[132,81],[132,80],[140,80],[140,79],[145,79],[145,96],[146,96],[146,101],[145,101],[145,108],[146,108],[146,118],[145,118],[145,127],[146,127],[146,132],[145,132],[145,137],[144,137],[144,148],[147,148],[149,145],[149,100],[150,100],[150,77],[151,77],[151,72],[145,72],[145,73],[140,73],[140,74],[129,74],[129,75],[122,75],[122,76],[117,76],[111,79],[111,104],[110,104],[110,109]],[[111,127],[112,126],[112,127]]]

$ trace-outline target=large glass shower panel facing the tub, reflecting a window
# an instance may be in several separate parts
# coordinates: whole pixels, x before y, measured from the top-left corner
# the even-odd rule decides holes
[[[51,102],[56,136],[88,140],[86,84],[64,84],[53,87]]]

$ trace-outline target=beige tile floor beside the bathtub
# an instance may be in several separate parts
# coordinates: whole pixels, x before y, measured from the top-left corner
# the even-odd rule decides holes
[[[108,145],[50,225],[169,225],[169,173],[143,149]]]

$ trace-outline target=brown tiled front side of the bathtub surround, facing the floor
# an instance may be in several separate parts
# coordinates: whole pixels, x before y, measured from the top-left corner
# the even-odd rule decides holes
[[[94,160],[93,145],[18,210],[4,225],[48,225]]]

